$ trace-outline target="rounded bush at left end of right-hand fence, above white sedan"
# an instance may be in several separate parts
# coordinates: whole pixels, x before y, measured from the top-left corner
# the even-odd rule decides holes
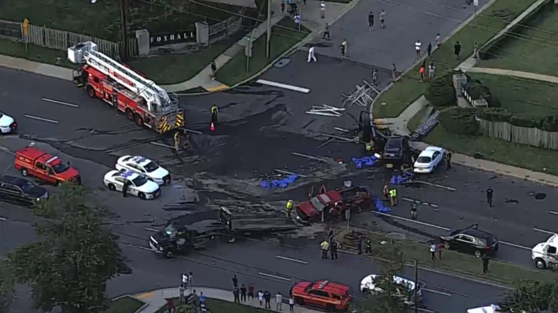
[[[446,107],[440,111],[438,120],[442,127],[450,133],[474,135],[478,133],[478,122],[475,116],[479,110],[475,107]]]

